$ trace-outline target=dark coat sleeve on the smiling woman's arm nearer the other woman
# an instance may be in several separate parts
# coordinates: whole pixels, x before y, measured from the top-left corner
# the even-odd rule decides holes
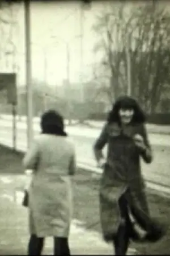
[[[104,158],[102,150],[105,144],[107,144],[107,141],[108,141],[107,124],[105,124],[100,133],[99,138],[96,140],[94,144],[94,155],[97,162],[99,162],[101,158]]]

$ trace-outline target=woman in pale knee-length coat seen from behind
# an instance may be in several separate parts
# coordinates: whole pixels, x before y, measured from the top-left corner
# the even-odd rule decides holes
[[[75,172],[74,146],[64,131],[62,116],[54,110],[42,115],[41,130],[23,159],[24,168],[33,170],[28,191],[28,255],[41,255],[44,238],[49,236],[54,237],[54,255],[70,255],[69,176]]]

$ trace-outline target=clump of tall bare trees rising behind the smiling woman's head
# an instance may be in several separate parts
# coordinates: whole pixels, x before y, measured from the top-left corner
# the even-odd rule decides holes
[[[125,15],[126,13],[126,15]],[[147,15],[146,15],[147,14]],[[97,17],[95,51],[110,70],[113,97],[129,92],[154,112],[164,84],[169,84],[169,15],[152,3],[129,8],[122,4]]]

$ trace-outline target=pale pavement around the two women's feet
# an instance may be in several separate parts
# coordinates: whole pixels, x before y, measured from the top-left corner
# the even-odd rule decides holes
[[[0,255],[27,255],[28,211],[20,204],[19,197],[14,200],[14,192],[22,187],[23,181],[21,175],[0,176]],[[73,255],[113,255],[112,246],[104,243],[99,233],[87,231],[76,220],[71,226],[70,248]],[[129,255],[134,253],[135,250],[129,250]],[[53,254],[52,238],[46,239],[43,254]]]

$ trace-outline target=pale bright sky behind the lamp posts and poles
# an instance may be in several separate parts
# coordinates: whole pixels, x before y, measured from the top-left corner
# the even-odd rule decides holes
[[[92,51],[96,38],[92,31],[95,15],[99,13],[100,2],[84,10],[83,18],[83,69],[95,61]],[[7,11],[6,15],[9,15]],[[13,36],[16,45],[15,63],[18,68],[18,82],[25,84],[25,30],[24,7],[22,4],[13,8]],[[10,27],[6,26],[9,34]],[[77,2],[47,2],[31,3],[31,56],[32,76],[46,80],[50,84],[62,84],[67,77],[67,47],[69,47],[70,81],[80,81],[80,3]],[[6,39],[7,40],[7,39]],[[5,40],[4,40],[5,42]],[[10,46],[7,51],[10,51]],[[10,70],[12,55],[4,59],[3,69]],[[45,72],[46,67],[46,72]],[[2,69],[1,68],[1,69]],[[88,68],[89,69],[89,68]]]

